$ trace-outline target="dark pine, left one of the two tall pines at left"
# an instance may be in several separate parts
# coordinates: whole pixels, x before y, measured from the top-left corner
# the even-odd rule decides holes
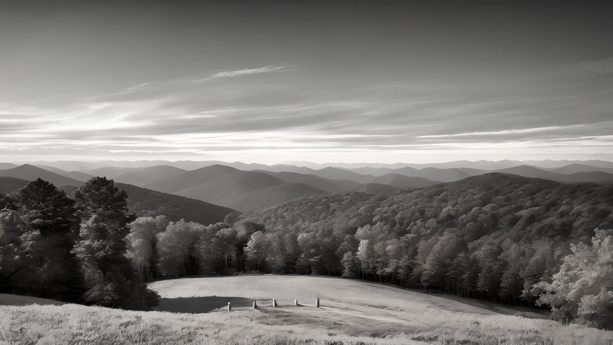
[[[75,201],[53,184],[36,179],[16,195],[17,225],[23,265],[21,292],[44,298],[78,301],[84,285],[71,253],[78,235]]]

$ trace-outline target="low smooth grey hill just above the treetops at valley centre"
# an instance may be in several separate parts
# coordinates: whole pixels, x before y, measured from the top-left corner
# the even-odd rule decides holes
[[[326,192],[312,185],[287,183],[254,190],[253,192],[235,196],[234,198],[226,198],[223,200],[223,203],[227,207],[237,209],[238,211],[248,212],[283,203],[294,198],[300,198],[300,196],[323,193]]]

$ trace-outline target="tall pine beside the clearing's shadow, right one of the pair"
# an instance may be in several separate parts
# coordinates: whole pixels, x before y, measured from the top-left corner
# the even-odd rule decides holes
[[[129,223],[128,193],[118,190],[113,180],[92,177],[75,192],[84,221],[73,252],[82,262],[88,291],[87,304],[112,308],[149,310],[157,294],[137,283],[126,257]]]

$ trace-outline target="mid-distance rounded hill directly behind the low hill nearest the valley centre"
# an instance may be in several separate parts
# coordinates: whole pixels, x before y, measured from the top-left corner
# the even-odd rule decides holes
[[[218,205],[226,205],[227,203],[237,202],[237,197],[246,193],[284,183],[286,183],[284,180],[265,172],[238,170],[228,172],[204,184],[180,190],[175,194]]]

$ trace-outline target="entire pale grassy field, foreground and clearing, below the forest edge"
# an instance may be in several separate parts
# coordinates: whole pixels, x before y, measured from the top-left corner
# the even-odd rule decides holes
[[[0,306],[0,345],[608,345],[613,342],[611,331],[562,326],[526,308],[506,308],[478,301],[463,303],[453,298],[338,277],[196,277],[153,282],[150,287],[162,298],[169,298],[166,303],[172,304],[172,298],[181,298],[177,301],[183,304],[177,302],[175,308],[188,305],[185,298],[212,295],[254,298],[259,308],[188,314],[121,311],[75,304]],[[313,306],[318,295],[321,308]],[[278,307],[270,306],[272,298],[277,299]],[[294,299],[304,306],[294,306]]]

